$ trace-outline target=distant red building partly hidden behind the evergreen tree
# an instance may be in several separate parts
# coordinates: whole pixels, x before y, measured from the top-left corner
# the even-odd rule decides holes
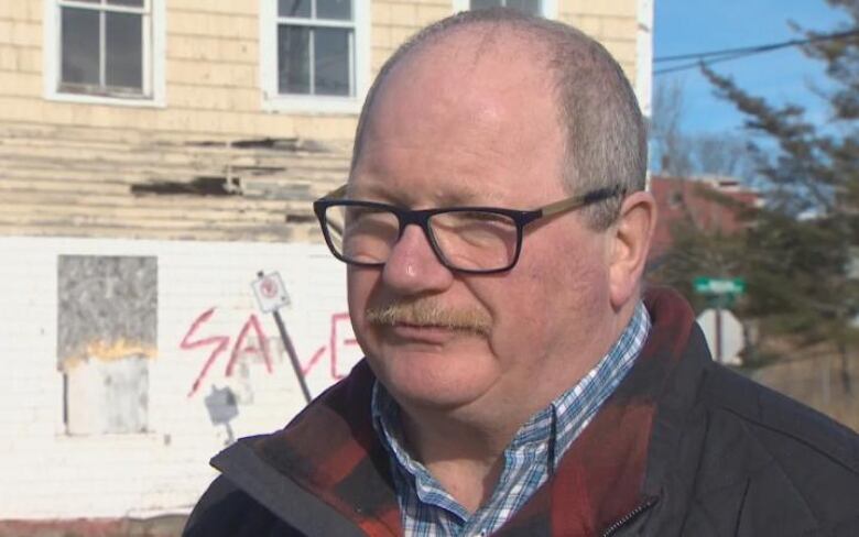
[[[650,190],[656,199],[659,219],[650,257],[664,254],[672,245],[675,226],[695,226],[703,231],[733,233],[746,223],[738,209],[717,198],[728,197],[740,206],[759,207],[760,195],[731,177],[663,177],[654,175]]]

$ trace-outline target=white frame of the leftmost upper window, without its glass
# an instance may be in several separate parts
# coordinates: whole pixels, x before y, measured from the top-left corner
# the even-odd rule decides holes
[[[44,97],[48,100],[64,102],[85,102],[91,105],[116,105],[123,107],[157,107],[163,108],[165,95],[164,55],[165,55],[165,0],[146,0],[150,18],[149,32],[143,32],[143,95],[96,95],[84,92],[61,91],[59,69],[62,65],[61,51],[61,17],[62,7],[93,9],[90,2],[75,0],[44,0],[43,31],[43,80]],[[111,11],[128,11],[138,13],[138,9],[123,10],[111,7]],[[145,24],[145,21],[144,21]]]

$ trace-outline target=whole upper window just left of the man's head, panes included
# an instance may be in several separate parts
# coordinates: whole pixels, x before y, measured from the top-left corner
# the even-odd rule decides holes
[[[268,108],[357,110],[366,83],[367,0],[267,3],[261,59]]]

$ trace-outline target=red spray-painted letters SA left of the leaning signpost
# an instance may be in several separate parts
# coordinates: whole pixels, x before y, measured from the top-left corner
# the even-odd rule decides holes
[[[194,384],[192,384],[191,392],[188,392],[188,397],[194,395],[197,392],[197,390],[199,390],[203,380],[206,377],[213,364],[218,359],[218,355],[220,355],[225,350],[227,350],[227,347],[229,347],[230,344],[230,338],[228,336],[211,336],[209,338],[205,338],[196,341],[191,340],[192,336],[196,333],[200,325],[208,321],[214,314],[215,314],[215,308],[209,308],[206,311],[204,311],[199,317],[197,317],[197,319],[191,325],[191,328],[188,329],[185,337],[182,338],[182,342],[180,343],[180,348],[185,350],[192,350],[192,349],[197,349],[199,347],[215,344],[215,348],[209,354],[209,358],[206,359],[206,362],[203,364],[203,369],[197,375],[197,379],[194,381]],[[248,332],[251,329],[253,329],[253,331],[255,332],[259,347],[254,347],[250,341],[248,341]],[[232,346],[232,353],[230,354],[230,361],[227,363],[227,370],[226,370],[227,376],[232,375],[232,371],[236,368],[236,363],[238,362],[239,358],[246,352],[254,352],[257,354],[260,354],[265,363],[265,369],[268,370],[268,372],[269,373],[272,372],[272,363],[271,363],[271,355],[269,352],[268,338],[265,337],[265,332],[262,330],[262,326],[260,326],[260,321],[257,319],[257,316],[253,314],[251,314],[248,317],[248,320],[244,322],[244,326],[241,327],[241,330],[239,331],[239,336],[238,338],[236,338],[236,344]]]

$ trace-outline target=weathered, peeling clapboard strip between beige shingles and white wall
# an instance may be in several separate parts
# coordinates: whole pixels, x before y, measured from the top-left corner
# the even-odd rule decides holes
[[[349,149],[303,143],[0,121],[0,234],[319,241],[311,201],[346,179]]]

